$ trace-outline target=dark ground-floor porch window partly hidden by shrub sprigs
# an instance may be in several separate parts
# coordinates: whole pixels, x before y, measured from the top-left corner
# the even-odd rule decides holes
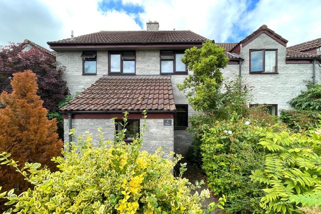
[[[133,138],[139,136],[139,119],[128,119],[127,124],[123,127],[124,121],[122,119],[116,120],[116,133],[119,133],[120,130],[126,129],[125,137],[123,141],[132,142]]]

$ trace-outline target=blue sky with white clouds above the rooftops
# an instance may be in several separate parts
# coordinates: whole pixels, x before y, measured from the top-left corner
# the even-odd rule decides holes
[[[100,30],[192,30],[216,42],[238,42],[262,24],[288,46],[321,37],[320,0],[1,0],[0,45],[47,41]],[[5,20],[5,21],[3,21]]]

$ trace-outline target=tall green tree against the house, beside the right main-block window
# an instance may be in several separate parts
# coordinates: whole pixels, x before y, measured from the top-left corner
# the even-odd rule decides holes
[[[220,69],[228,62],[225,50],[208,41],[201,48],[187,49],[182,62],[193,74],[178,85],[179,89],[186,92],[188,102],[195,110],[212,113],[220,106],[218,96],[223,82]]]

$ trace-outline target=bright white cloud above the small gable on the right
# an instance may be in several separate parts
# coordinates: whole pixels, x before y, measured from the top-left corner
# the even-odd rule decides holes
[[[260,0],[239,23],[247,34],[266,24],[291,46],[321,37],[320,11],[319,0]]]

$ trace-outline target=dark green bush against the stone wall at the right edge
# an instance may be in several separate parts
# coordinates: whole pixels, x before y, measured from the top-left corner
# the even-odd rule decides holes
[[[297,110],[321,111],[321,85],[311,82],[308,90],[290,101],[291,106]]]

